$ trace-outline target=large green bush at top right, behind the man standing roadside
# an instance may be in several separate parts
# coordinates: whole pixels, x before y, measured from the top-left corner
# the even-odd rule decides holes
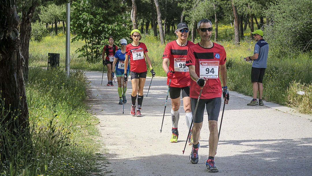
[[[265,38],[279,58],[286,53],[312,49],[312,1],[280,0],[264,12],[271,23],[265,27]]]

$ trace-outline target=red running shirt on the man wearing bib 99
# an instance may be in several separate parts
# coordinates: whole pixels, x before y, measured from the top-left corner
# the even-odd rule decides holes
[[[171,79],[170,87],[183,88],[190,85],[191,77],[185,62],[188,47],[193,45],[193,42],[188,41],[187,45],[180,46],[176,40],[166,45],[165,51],[163,52],[163,59],[169,58],[169,70],[175,72]],[[167,85],[169,85],[168,78]]]

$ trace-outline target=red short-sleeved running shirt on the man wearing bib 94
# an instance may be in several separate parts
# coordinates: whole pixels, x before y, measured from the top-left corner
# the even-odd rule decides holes
[[[219,66],[227,61],[227,54],[222,45],[213,43],[212,48],[203,48],[196,43],[188,48],[186,65],[195,65],[195,72],[200,78],[208,78],[200,99],[211,99],[222,96]],[[199,85],[191,79],[190,97],[198,98]]]

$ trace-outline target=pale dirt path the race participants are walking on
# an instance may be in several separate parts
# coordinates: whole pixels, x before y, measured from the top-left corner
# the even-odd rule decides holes
[[[225,107],[215,157],[219,172],[209,173],[205,165],[209,137],[207,114],[204,116],[197,164],[189,161],[190,146],[187,145],[182,154],[188,133],[183,107],[180,108],[178,143],[169,143],[170,98],[163,132],[160,133],[168,89],[165,78],[154,78],[146,97],[150,83],[150,78],[147,78],[143,117],[138,118],[130,115],[130,82],[126,93],[128,103],[122,114],[123,106],[118,105],[117,82],[113,87],[108,87],[105,77],[101,86],[101,72],[86,72],[86,76],[91,81],[90,91],[94,99],[92,110],[97,112],[103,109],[96,116],[100,119],[98,127],[105,143],[103,147],[109,152],[107,157],[110,164],[106,169],[111,173],[107,175],[312,175],[312,116],[299,117],[267,106],[248,107],[246,104],[249,100],[230,91],[230,103]],[[273,103],[270,106],[278,107]],[[221,114],[222,109],[219,124]]]

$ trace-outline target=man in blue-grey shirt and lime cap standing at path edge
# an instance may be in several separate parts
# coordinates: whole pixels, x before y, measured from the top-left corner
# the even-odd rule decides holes
[[[263,106],[262,101],[263,94],[263,76],[266,70],[266,62],[269,53],[269,44],[263,39],[263,31],[258,29],[252,33],[255,41],[255,50],[253,56],[246,57],[246,61],[253,61],[251,68],[251,82],[252,82],[252,93],[253,99],[247,106],[260,105]],[[259,91],[259,103],[257,101],[257,93]]]

